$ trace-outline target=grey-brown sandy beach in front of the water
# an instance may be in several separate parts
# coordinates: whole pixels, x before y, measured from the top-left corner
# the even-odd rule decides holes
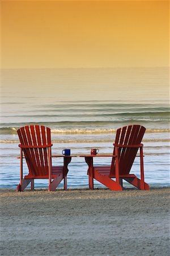
[[[170,255],[169,188],[0,191],[1,255]]]

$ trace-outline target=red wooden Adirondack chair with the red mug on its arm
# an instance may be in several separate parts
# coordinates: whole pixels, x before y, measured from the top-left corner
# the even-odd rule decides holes
[[[139,189],[150,189],[144,181],[143,144],[141,141],[145,130],[145,127],[140,125],[129,125],[117,130],[111,166],[94,166],[93,159],[104,155],[85,156],[88,164],[90,189],[94,189],[94,179],[115,191],[123,189],[123,179]],[[134,174],[129,174],[138,149],[140,149],[141,179]],[[112,178],[116,180],[112,180]]]

